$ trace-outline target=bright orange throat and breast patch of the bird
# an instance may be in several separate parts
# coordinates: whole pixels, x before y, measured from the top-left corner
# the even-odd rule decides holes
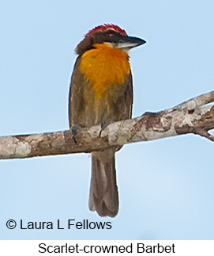
[[[129,55],[108,44],[95,44],[95,49],[81,56],[80,69],[97,97],[108,87],[120,86],[130,74]]]

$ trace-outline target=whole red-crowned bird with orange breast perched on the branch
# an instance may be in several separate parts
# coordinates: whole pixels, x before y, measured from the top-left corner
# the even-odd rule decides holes
[[[77,59],[69,87],[69,128],[90,128],[132,116],[133,79],[128,51],[145,40],[128,36],[118,25],[89,30],[75,48]],[[92,151],[89,209],[99,216],[118,214],[115,152],[121,147]]]

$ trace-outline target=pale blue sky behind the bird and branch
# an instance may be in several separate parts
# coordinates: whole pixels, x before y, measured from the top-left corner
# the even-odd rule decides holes
[[[193,0],[0,3],[0,136],[66,130],[74,48],[115,23],[147,44],[130,52],[133,117],[214,86],[214,2]],[[115,219],[88,210],[89,155],[0,161],[0,239],[214,239],[214,144],[187,135],[117,153]],[[111,221],[111,230],[8,230],[60,219]]]

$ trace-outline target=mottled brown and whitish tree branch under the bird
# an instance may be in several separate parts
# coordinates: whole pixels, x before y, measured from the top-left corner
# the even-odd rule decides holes
[[[186,133],[198,134],[214,141],[214,137],[208,133],[214,128],[214,105],[207,105],[211,102],[214,102],[214,91],[194,97],[172,109],[145,113],[141,117],[109,124],[100,136],[100,125],[88,129],[77,128],[76,142],[69,131],[0,137],[0,159],[91,152]]]

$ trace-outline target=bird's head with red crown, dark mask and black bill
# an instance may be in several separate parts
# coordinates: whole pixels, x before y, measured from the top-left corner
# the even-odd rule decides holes
[[[113,48],[120,48],[128,51],[138,45],[145,44],[145,40],[133,36],[128,36],[124,29],[118,25],[105,24],[91,29],[77,45],[75,51],[78,55],[94,48],[95,44],[108,44]]]

